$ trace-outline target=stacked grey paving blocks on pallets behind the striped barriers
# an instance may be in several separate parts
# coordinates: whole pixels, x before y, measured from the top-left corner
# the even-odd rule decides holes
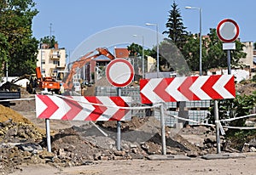
[[[96,87],[96,96],[117,96],[115,87]],[[141,106],[140,88],[139,87],[125,87],[121,90],[121,96],[129,96],[132,99],[133,107]],[[166,126],[173,127],[177,122],[183,122],[173,118],[172,116],[180,116],[194,121],[204,121],[207,119],[210,107],[210,100],[201,101],[187,101],[187,102],[167,102],[165,103],[166,109]],[[150,112],[151,113],[151,112]],[[146,110],[133,110],[132,116],[145,117],[148,116]],[[152,115],[160,120],[160,111],[153,110]],[[185,124],[185,122],[183,122]],[[193,122],[186,122],[189,125],[195,125]]]

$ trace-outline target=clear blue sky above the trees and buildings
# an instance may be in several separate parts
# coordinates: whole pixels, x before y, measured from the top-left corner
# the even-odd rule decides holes
[[[67,54],[72,55],[78,48],[92,45],[91,42],[85,44],[84,41],[94,39],[95,36],[100,45],[105,44],[105,40],[115,41],[123,36],[122,30],[119,30],[120,33],[116,38],[105,31],[112,33],[116,32],[113,29],[131,31],[130,26],[143,29],[143,31],[139,30],[141,32],[139,35],[144,35],[144,31],[156,31],[156,25],[145,25],[146,23],[157,24],[159,33],[166,31],[166,22],[169,11],[172,10],[173,0],[34,0],[34,2],[39,13],[32,21],[33,36],[37,39],[55,36],[59,47],[66,48]],[[217,28],[221,20],[231,19],[239,25],[241,42],[256,42],[256,15],[253,15],[255,0],[176,0],[175,2],[182,16],[183,25],[187,27],[186,31],[191,33],[200,31],[200,11],[185,8],[190,6],[202,10],[202,35],[207,35],[210,28]],[[99,33],[104,35],[98,35]],[[151,39],[148,47],[153,42],[156,43],[155,35],[150,36],[150,38],[143,36],[145,41]],[[131,37],[127,42],[134,40],[139,43],[138,37]],[[106,47],[108,48],[107,45]],[[85,53],[86,49],[90,48],[84,48]]]

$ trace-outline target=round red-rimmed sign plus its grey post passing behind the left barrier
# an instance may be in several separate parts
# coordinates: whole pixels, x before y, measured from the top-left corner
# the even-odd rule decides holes
[[[133,66],[126,59],[113,59],[107,66],[106,76],[108,82],[117,88],[118,96],[121,96],[121,88],[129,85],[134,76]],[[117,121],[117,150],[121,150],[121,122]]]

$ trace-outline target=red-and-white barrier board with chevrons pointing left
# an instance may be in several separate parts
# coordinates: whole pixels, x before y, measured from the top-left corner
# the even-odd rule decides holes
[[[232,75],[143,79],[140,93],[143,104],[236,97]]]

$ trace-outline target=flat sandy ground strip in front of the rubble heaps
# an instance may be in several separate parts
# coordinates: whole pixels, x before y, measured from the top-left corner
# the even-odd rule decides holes
[[[91,161],[88,166],[54,168],[47,165],[23,166],[22,171],[13,175],[113,175],[113,174],[193,174],[193,175],[254,175],[256,157],[247,156],[241,159],[203,160],[190,161]]]

